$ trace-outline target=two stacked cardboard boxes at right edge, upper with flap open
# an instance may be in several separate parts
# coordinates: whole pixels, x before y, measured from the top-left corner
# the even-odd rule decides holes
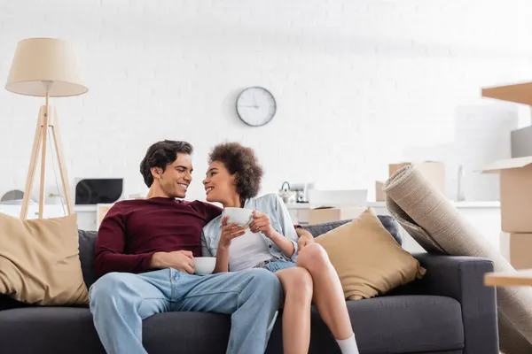
[[[532,156],[490,164],[483,173],[499,173],[500,250],[515,269],[532,268]]]

